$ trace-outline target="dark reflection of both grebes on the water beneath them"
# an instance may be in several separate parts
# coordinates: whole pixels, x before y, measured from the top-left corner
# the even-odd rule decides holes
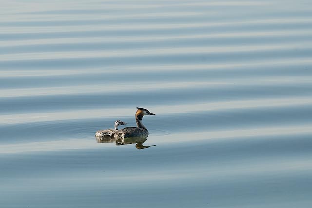
[[[115,142],[115,144],[118,146],[119,145],[136,144],[137,149],[145,149],[145,148],[156,146],[156,145],[143,145],[143,143],[147,140],[147,136],[132,137],[132,138],[112,138],[112,137],[96,136],[96,140],[98,143]]]

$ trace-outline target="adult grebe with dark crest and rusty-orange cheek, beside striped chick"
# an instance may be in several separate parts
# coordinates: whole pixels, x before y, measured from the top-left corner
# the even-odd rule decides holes
[[[148,130],[142,123],[144,115],[155,115],[155,114],[149,112],[147,109],[137,107],[137,113],[135,114],[137,127],[126,127],[121,130],[118,130],[114,134],[114,137],[115,138],[147,137]]]

